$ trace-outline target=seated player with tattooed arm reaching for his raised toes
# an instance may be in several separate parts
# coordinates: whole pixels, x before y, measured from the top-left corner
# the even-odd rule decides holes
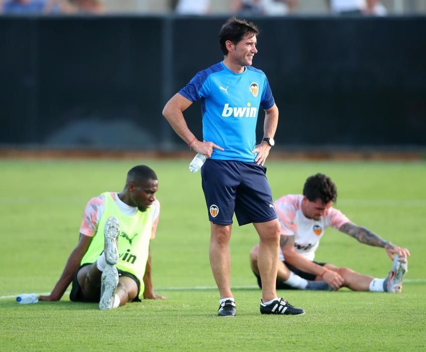
[[[342,212],[332,207],[336,199],[334,183],[326,175],[317,173],[306,180],[303,196],[287,195],[274,203],[281,224],[277,289],[312,289],[309,280],[316,280],[327,283],[333,290],[348,287],[354,291],[401,293],[402,278],[407,272],[407,255],[410,255],[408,249],[398,247],[352,223]],[[314,261],[319,240],[330,226],[361,243],[385,248],[393,260],[389,275],[377,279],[349,268]],[[250,252],[250,264],[261,286],[257,252],[258,245],[255,245]],[[329,287],[316,289],[327,290]]]

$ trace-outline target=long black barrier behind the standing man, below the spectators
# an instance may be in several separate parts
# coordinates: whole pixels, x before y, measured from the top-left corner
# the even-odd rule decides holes
[[[0,18],[0,144],[184,148],[162,107],[223,58],[225,19]],[[278,148],[426,146],[425,18],[252,20]],[[185,116],[201,139],[200,103]]]

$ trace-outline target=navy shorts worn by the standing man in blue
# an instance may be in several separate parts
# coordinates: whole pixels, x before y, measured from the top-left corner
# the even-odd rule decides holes
[[[266,222],[277,218],[266,167],[255,162],[207,159],[201,179],[209,220],[230,225]]]

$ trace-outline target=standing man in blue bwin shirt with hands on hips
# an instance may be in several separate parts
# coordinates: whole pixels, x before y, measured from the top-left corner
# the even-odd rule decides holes
[[[305,313],[278,298],[275,290],[280,224],[263,165],[274,145],[278,108],[265,73],[251,67],[258,52],[258,33],[252,23],[229,19],[219,32],[223,61],[198,72],[163,110],[188,146],[208,157],[201,177],[211,224],[210,265],[220,294],[220,316],[236,314],[229,251],[234,212],[240,226],[253,223],[260,237],[261,313]],[[183,116],[197,100],[202,102],[203,141],[189,130]],[[264,138],[255,145],[259,107],[265,111]]]

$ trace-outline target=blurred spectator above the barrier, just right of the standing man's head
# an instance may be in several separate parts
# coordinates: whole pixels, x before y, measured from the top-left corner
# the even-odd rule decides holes
[[[239,15],[285,16],[292,13],[298,0],[234,0],[233,11]]]

